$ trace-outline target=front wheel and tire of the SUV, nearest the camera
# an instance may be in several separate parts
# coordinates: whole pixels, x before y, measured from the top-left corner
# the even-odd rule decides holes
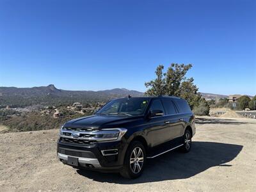
[[[124,166],[120,170],[120,175],[127,179],[136,179],[143,172],[146,160],[145,147],[140,141],[132,141],[127,148]],[[131,163],[131,162],[134,163]]]

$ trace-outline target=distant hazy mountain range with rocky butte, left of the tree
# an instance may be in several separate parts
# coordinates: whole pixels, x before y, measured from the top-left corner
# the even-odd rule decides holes
[[[144,93],[125,88],[102,91],[69,91],[56,88],[53,84],[32,88],[0,87],[0,105],[15,107],[33,104],[70,104],[72,102],[106,102],[115,97],[143,96]]]

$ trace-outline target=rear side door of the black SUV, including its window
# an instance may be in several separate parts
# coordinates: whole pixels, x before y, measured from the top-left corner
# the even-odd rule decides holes
[[[172,99],[168,97],[162,98],[164,109],[166,111],[165,124],[168,126],[168,140],[173,140],[180,136],[180,130],[182,129],[182,121],[178,109],[175,107]]]

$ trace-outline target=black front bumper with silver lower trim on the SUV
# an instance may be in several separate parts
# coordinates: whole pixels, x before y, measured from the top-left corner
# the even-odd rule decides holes
[[[68,164],[68,156],[77,157],[79,164],[77,168],[114,171],[122,168],[127,146],[125,141],[99,142],[86,146],[62,143],[59,140],[57,155],[64,164]],[[115,153],[109,155],[109,150],[110,152],[115,150]]]

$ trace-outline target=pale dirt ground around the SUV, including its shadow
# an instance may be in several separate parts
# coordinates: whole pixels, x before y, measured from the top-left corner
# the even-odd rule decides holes
[[[62,164],[58,130],[0,134],[0,191],[255,191],[256,120],[196,122],[191,152],[150,159],[135,180]]]

